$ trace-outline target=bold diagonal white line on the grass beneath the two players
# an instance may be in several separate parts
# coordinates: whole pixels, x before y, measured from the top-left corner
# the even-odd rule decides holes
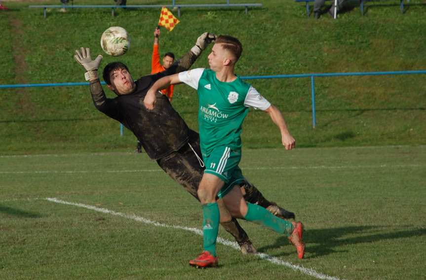
[[[56,198],[46,198],[46,200],[48,200],[50,202],[54,202],[54,203],[72,205],[72,206],[86,208],[86,209],[89,209],[89,210],[94,210],[94,211],[98,211],[98,212],[102,212],[102,213],[106,213],[106,214],[111,214],[111,215],[131,219],[131,220],[135,220],[135,221],[138,221],[138,222],[142,222],[142,223],[145,223],[145,224],[154,225],[154,226],[157,226],[157,227],[181,229],[181,230],[193,232],[193,233],[201,235],[201,236],[203,235],[202,231],[200,229],[197,229],[197,228],[190,228],[190,227],[177,226],[177,225],[166,225],[166,224],[162,224],[162,223],[159,223],[159,222],[156,222],[156,221],[146,219],[144,217],[136,216],[135,214],[124,214],[124,213],[116,212],[116,211],[113,211],[113,210],[108,210],[108,209],[105,209],[105,208],[98,208],[98,207],[95,207],[95,206],[85,205],[85,204],[81,204],[81,203],[67,202],[67,201],[56,199]],[[229,241],[227,239],[223,239],[221,237],[218,237],[217,242],[221,243],[223,245],[230,246],[230,247],[234,248],[235,250],[239,250],[239,246],[236,242],[232,242],[232,241]],[[317,272],[313,269],[305,268],[305,267],[300,266],[300,265],[295,265],[295,264],[292,264],[290,262],[280,260],[276,257],[272,257],[272,256],[264,254],[264,253],[257,253],[256,255],[259,258],[267,260],[267,261],[269,261],[273,264],[286,266],[286,267],[291,268],[295,271],[300,271],[303,274],[310,275],[310,276],[312,276],[316,279],[340,280],[337,277],[328,276],[328,275],[325,275],[323,273]]]

